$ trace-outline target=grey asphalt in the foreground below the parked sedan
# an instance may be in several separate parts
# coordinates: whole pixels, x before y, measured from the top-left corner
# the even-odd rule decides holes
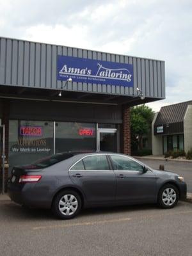
[[[51,212],[0,202],[0,252],[28,255],[192,255],[192,204],[86,209],[55,220]]]

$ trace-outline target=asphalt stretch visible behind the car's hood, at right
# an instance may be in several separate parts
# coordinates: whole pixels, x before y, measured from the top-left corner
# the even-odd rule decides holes
[[[164,164],[164,170],[168,170],[170,172],[178,173],[183,176],[187,187],[188,193],[192,193],[192,162],[187,161],[166,161],[166,160],[156,160],[156,159],[138,159],[141,162],[147,164],[148,166],[159,170],[159,165]]]

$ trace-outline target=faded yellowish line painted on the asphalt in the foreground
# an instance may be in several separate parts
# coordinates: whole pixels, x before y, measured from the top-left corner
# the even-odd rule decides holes
[[[106,223],[122,222],[122,221],[129,221],[129,220],[131,220],[131,218],[121,218],[121,219],[101,220],[101,221],[91,221],[91,222],[81,222],[81,223],[70,223],[70,224],[61,224],[61,225],[50,225],[50,226],[33,227],[33,230],[89,226],[89,225],[106,224]]]

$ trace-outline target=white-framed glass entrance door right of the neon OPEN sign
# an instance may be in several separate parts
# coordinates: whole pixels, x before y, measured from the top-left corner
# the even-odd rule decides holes
[[[116,129],[98,129],[97,150],[117,152]]]

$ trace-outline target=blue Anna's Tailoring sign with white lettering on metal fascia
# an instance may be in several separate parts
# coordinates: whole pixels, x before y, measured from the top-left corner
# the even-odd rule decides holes
[[[72,81],[81,83],[133,86],[131,64],[59,55],[57,78],[61,81],[67,81],[69,77],[72,78]]]

